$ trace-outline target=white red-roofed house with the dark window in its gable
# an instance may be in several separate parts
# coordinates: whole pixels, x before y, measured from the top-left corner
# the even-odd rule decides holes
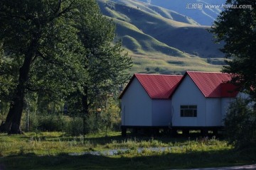
[[[215,72],[186,72],[171,98],[174,129],[218,130],[223,118],[238,95],[230,84],[231,76]]]

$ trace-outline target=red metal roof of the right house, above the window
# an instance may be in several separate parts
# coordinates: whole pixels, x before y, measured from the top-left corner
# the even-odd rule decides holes
[[[231,75],[220,72],[186,72],[206,98],[235,97],[238,87],[230,83]]]

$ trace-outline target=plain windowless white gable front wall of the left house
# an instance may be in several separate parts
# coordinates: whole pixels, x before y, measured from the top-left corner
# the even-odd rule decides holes
[[[152,101],[142,84],[134,78],[122,96],[122,125],[151,126]]]

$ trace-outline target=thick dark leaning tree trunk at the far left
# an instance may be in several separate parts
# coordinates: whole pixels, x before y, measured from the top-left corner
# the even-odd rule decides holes
[[[24,96],[28,74],[31,68],[31,62],[36,54],[36,40],[31,42],[31,46],[25,56],[22,67],[19,69],[18,85],[16,86],[16,94],[11,101],[9,113],[6,122],[0,127],[0,132],[8,132],[9,134],[21,134],[21,115],[23,111]]]

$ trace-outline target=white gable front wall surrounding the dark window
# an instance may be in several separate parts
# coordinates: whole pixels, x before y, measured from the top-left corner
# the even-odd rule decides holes
[[[173,126],[206,126],[206,98],[188,76],[171,98]],[[181,117],[181,105],[196,105],[197,117]]]

